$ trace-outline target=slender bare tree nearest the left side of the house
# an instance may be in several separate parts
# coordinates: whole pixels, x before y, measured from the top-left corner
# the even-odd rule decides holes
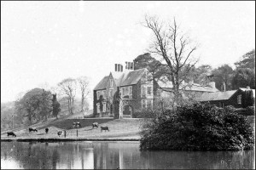
[[[79,82],[79,88],[81,91],[81,112],[82,112],[84,111],[85,99],[87,99],[87,96],[90,94],[90,89],[88,88],[89,80],[87,77],[79,77],[77,80]]]

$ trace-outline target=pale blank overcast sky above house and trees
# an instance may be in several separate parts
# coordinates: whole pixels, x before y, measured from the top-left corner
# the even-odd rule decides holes
[[[90,77],[146,52],[145,14],[176,17],[200,43],[199,64],[232,65],[255,47],[255,2],[1,2],[1,102],[20,92]]]

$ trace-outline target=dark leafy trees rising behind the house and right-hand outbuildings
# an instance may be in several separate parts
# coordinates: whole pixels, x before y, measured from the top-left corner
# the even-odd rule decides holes
[[[160,80],[162,72],[166,69],[159,60],[149,53],[137,56],[134,59],[134,65],[135,69],[148,68],[148,71],[154,75],[153,78],[156,82]],[[235,90],[247,86],[255,89],[255,50],[253,49],[241,56],[235,65],[235,69],[226,64],[218,68],[212,68],[211,65],[194,66],[184,80],[187,82],[193,80],[195,83],[207,85],[207,76],[212,75],[212,81],[216,82],[216,88],[221,91],[224,91],[224,88],[225,90]]]

